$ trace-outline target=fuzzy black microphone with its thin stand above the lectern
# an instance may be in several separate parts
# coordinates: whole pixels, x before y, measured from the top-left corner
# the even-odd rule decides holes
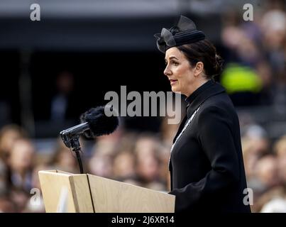
[[[97,106],[96,108],[89,109],[79,117],[81,122],[79,125],[60,132],[60,137],[67,148],[72,148],[72,150],[75,151],[81,173],[83,173],[83,167],[79,155],[79,135],[84,134],[87,138],[109,135],[119,126],[119,115],[115,112],[115,115],[106,116],[104,113],[104,109],[106,108],[110,108],[110,111],[114,111],[112,106]]]

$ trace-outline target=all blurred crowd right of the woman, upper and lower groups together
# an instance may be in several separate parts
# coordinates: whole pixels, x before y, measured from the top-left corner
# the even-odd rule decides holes
[[[254,20],[229,11],[222,16],[224,72],[221,84],[235,106],[268,106],[272,124],[286,117],[285,1],[254,5]],[[260,116],[263,113],[260,113]],[[259,115],[258,115],[259,116]],[[270,135],[255,119],[241,116],[243,158],[253,212],[286,212],[286,129]],[[273,132],[272,132],[273,133]]]

